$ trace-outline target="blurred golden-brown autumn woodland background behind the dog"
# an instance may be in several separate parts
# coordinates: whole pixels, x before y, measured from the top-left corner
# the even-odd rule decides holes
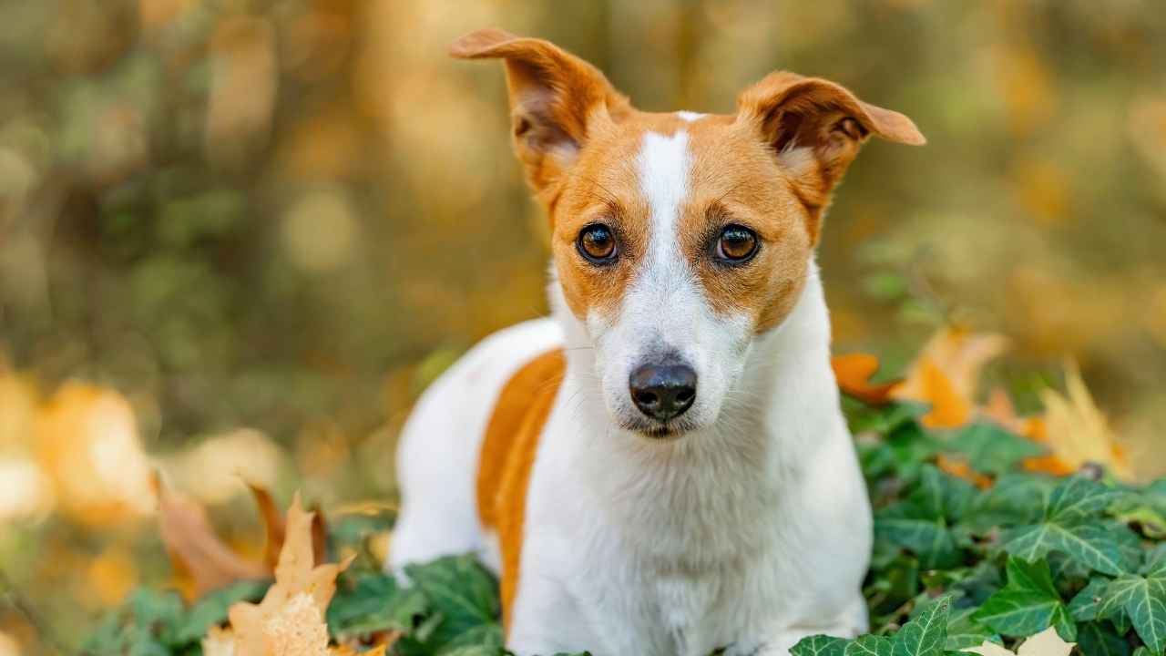
[[[829,215],[836,350],[1003,333],[1021,410],[1073,358],[1166,467],[1153,0],[0,0],[0,654],[170,580],[155,468],[245,553],[243,480],[391,500],[420,390],[546,312],[501,67],[445,56],[486,26],[646,110],[786,68],[907,113],[928,146],[872,142]]]

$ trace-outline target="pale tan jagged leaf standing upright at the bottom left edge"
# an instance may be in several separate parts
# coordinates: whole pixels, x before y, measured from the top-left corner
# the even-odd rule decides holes
[[[324,612],[336,593],[336,577],[352,561],[314,565],[312,515],[297,494],[287,515],[287,540],[275,566],[275,584],[258,605],[231,606],[232,656],[342,656],[346,647],[329,649]],[[218,648],[227,642],[223,631],[206,637]],[[384,654],[384,649],[380,649]]]

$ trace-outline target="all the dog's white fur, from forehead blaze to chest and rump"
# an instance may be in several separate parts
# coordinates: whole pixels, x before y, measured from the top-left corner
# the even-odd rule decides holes
[[[817,267],[807,263],[795,308],[763,335],[716,316],[675,236],[690,161],[683,132],[645,137],[651,254],[616,316],[577,320],[553,281],[554,319],[475,348],[406,426],[389,565],[477,550],[497,566],[473,516],[477,462],[466,454],[477,454],[506,372],[566,348],[527,491],[507,636],[520,656],[785,655],[807,635],[866,628],[871,512],[829,367]],[[689,411],[700,427],[653,441],[620,426],[630,405],[609,389],[626,396],[627,368],[661,343],[691,358],[703,400]],[[471,403],[452,410],[451,397]]]

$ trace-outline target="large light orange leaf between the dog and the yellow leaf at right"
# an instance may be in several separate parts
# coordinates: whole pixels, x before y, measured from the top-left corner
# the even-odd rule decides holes
[[[928,340],[891,397],[930,404],[922,418],[928,427],[962,426],[972,418],[981,370],[1006,348],[1007,339],[1002,335],[943,328]]]

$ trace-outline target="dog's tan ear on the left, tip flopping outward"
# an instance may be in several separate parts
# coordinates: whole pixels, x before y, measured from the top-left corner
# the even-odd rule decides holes
[[[540,195],[575,162],[590,131],[631,109],[598,69],[541,39],[480,29],[449,51],[464,60],[505,60],[514,149]]]

